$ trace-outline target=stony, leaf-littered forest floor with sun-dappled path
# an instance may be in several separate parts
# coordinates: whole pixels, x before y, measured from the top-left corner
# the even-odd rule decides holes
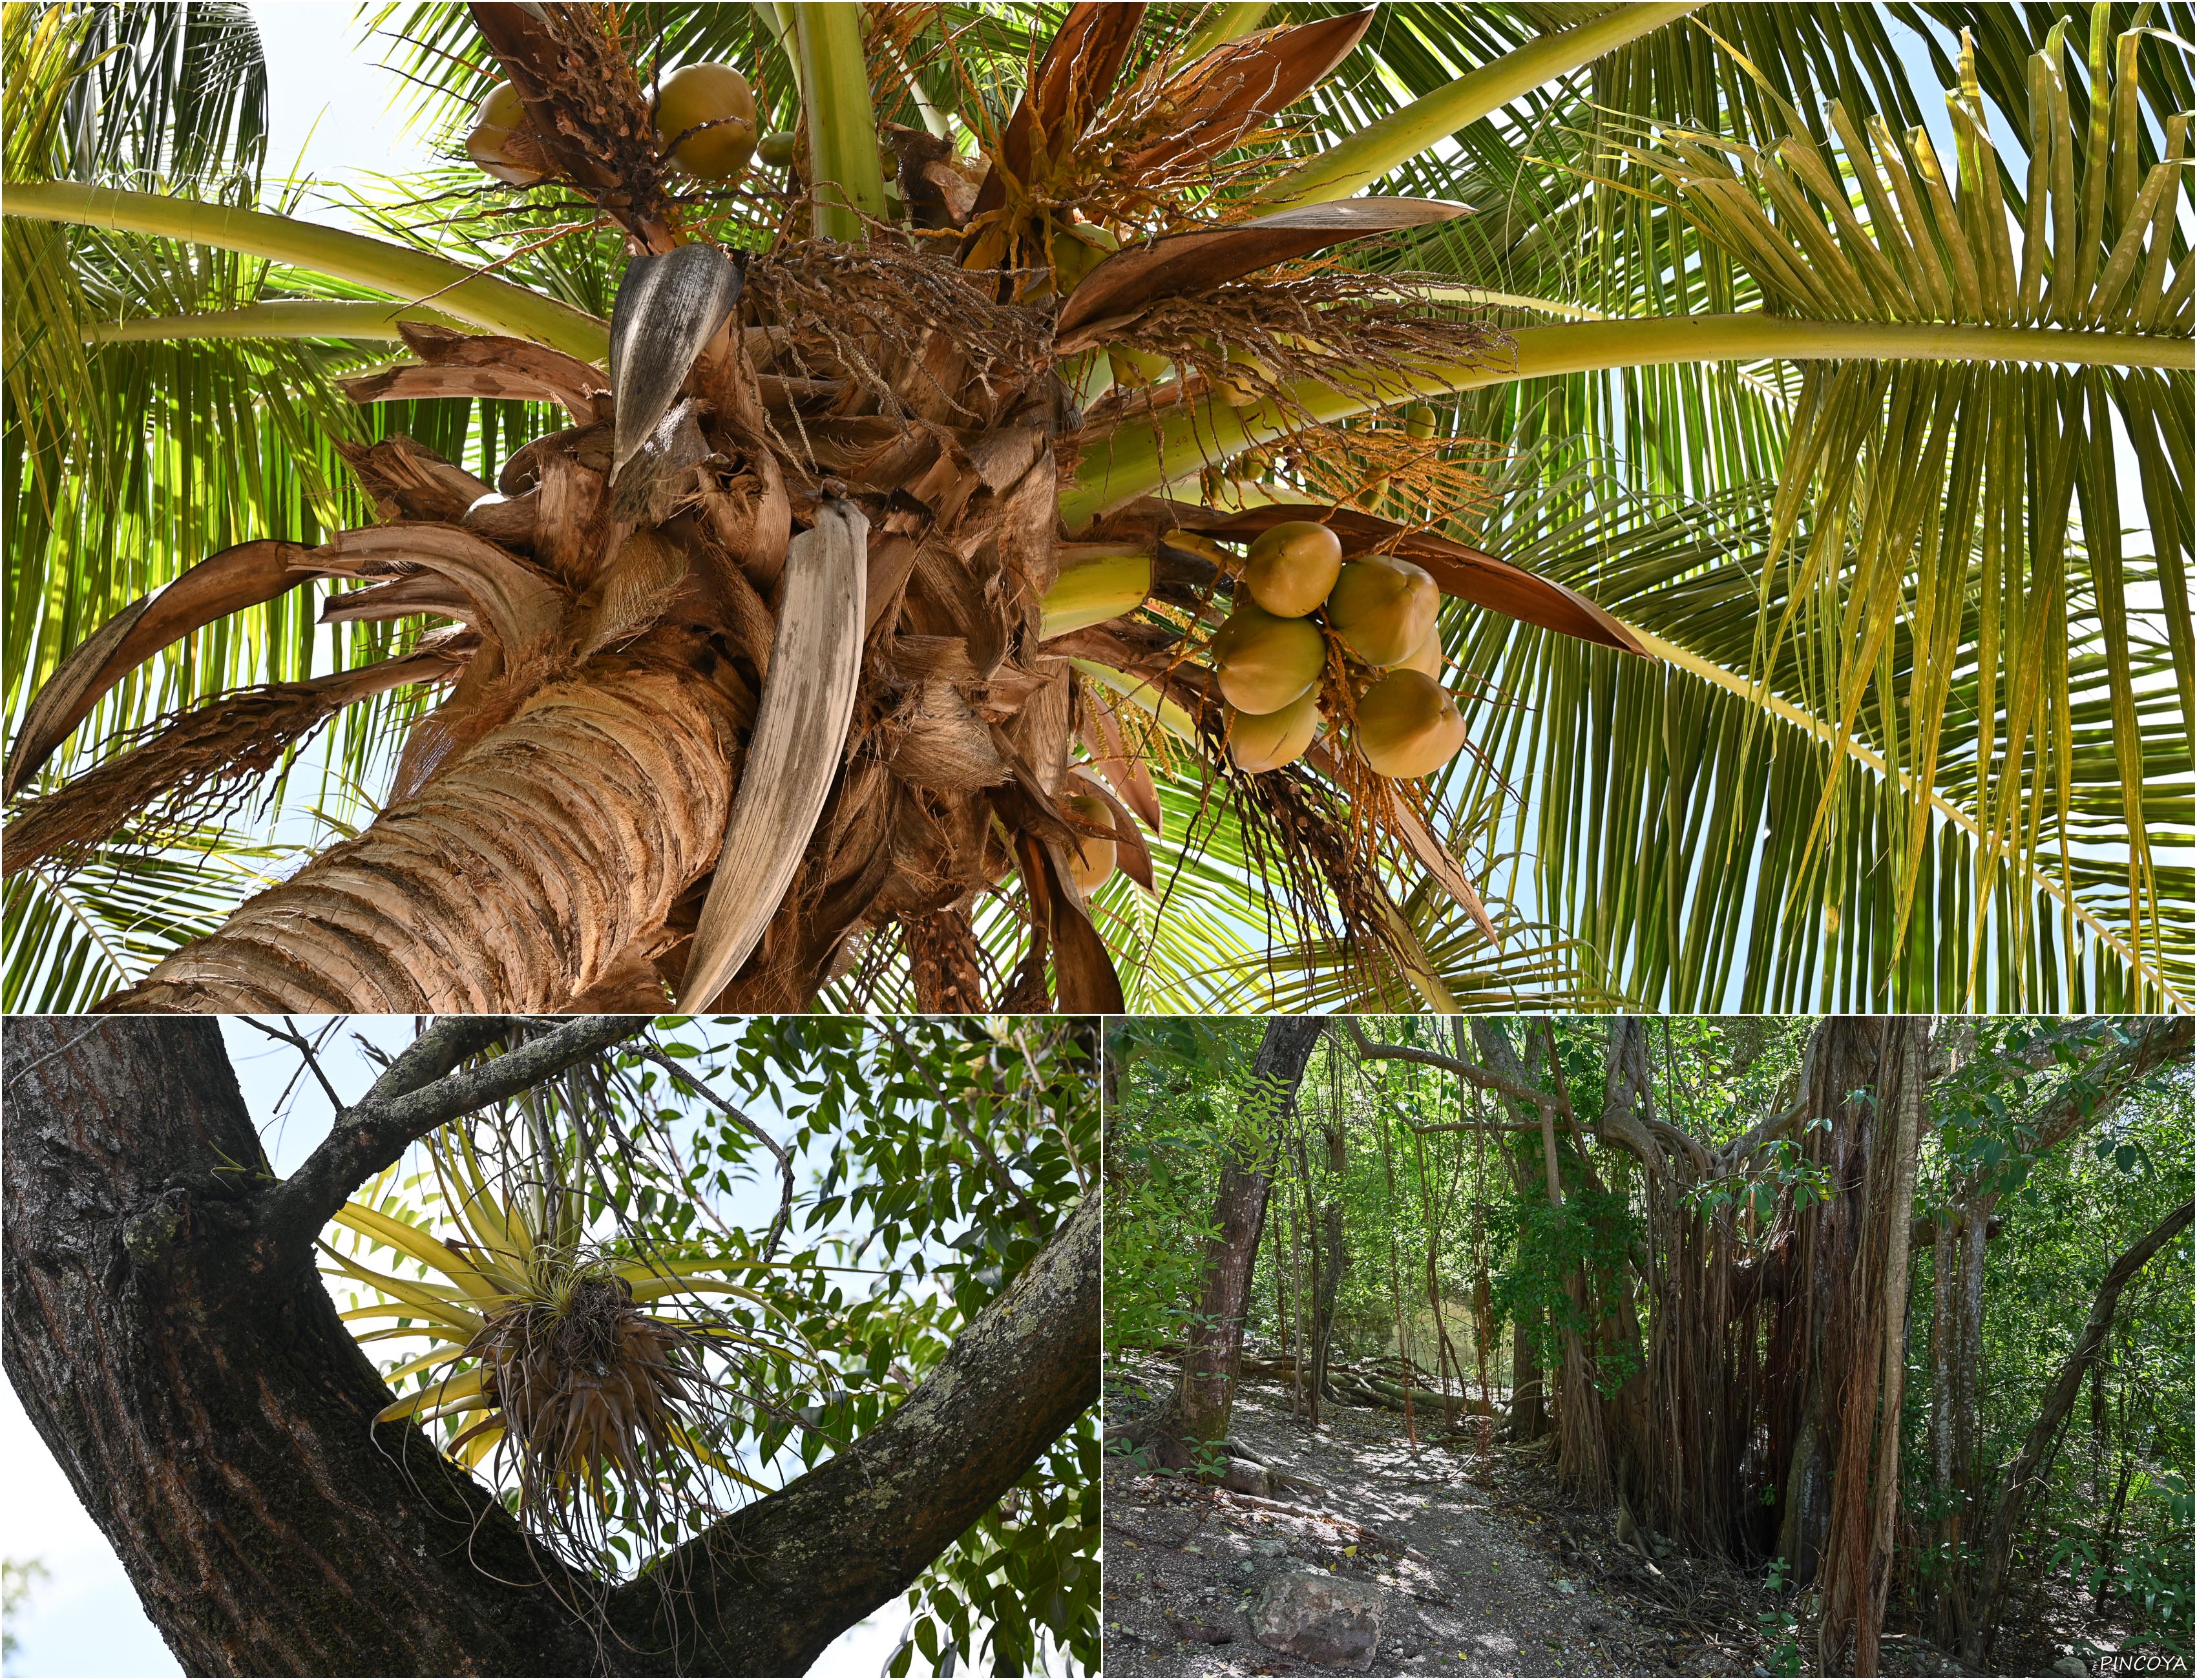
[[[1112,1366],[1107,1423],[1145,1416],[1171,1386],[1169,1366]],[[1780,1649],[1788,1599],[1762,1581],[1619,1546],[1610,1511],[1558,1491],[1547,1441],[1481,1452],[1439,1416],[1426,1423],[1413,1452],[1402,1414],[1340,1405],[1323,1408],[1314,1436],[1290,1419],[1283,1384],[1246,1377],[1230,1438],[1312,1487],[1259,1500],[1107,1454],[1105,1673],[1347,1673],[1252,1634],[1268,1581],[1307,1564],[1375,1590],[1371,1673],[1751,1676],[1813,1658],[1813,1629]],[[1885,1673],[1962,1669],[1887,1636]]]

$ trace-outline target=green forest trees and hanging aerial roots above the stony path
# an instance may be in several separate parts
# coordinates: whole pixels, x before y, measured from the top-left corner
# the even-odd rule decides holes
[[[1821,1671],[2045,1610],[2188,1654],[2188,1021],[1276,1026],[1109,1039],[1107,1355],[1175,1463],[1257,1373],[1544,1452]]]

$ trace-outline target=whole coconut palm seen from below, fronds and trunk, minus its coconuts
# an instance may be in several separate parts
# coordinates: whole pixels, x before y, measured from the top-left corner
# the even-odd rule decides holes
[[[369,237],[235,15],[15,9],[11,984],[2186,1006],[2184,13],[415,9],[525,184]],[[677,165],[703,61],[782,163]],[[1329,602],[1244,766],[1279,523],[1470,751]],[[327,718],[360,804],[207,835]]]

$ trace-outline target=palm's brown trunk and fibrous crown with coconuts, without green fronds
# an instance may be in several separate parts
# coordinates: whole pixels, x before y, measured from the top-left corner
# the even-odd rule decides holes
[[[806,143],[776,152],[793,158],[776,239],[729,253],[707,211],[747,171],[740,75],[653,88],[615,7],[472,7],[508,83],[470,156],[626,231],[606,340],[400,321],[413,360],[354,400],[518,397],[571,424],[494,483],[402,437],[349,448],[382,523],[226,549],[48,679],[9,797],[132,670],[310,580],[358,584],[325,621],[453,621],[387,668],[448,690],[380,817],[112,1008],[800,1008],[894,951],[923,1008],[1120,1008],[1088,894],[1109,863],[1156,887],[1149,764],[1184,753],[1298,914],[1331,905],[1362,962],[1426,973],[1389,852],[1487,927],[1417,804],[1415,777],[1465,744],[1437,593],[1641,648],[1577,593],[1439,536],[1476,481],[1417,415],[1342,430],[1301,400],[1406,404],[1507,356],[1408,277],[1323,255],[1463,206],[1252,213],[1290,163],[1283,112],[1371,13],[1184,46],[1142,7],[1072,7],[1008,121],[971,119],[971,158],[949,134],[879,132],[861,55],[830,40],[850,11],[787,11]],[[877,9],[872,57],[896,64],[885,24]],[[1202,481],[1202,501],[1063,509],[1088,437],[1158,435],[1215,400],[1279,408],[1296,470],[1206,459],[1164,481]],[[1239,580],[1298,527],[1336,575],[1268,615]],[[1263,619],[1294,648],[1281,679],[1250,648]],[[31,802],[9,867],[204,804],[378,692],[373,670],[174,720]],[[973,909],[1002,889],[1026,938],[986,973]]]

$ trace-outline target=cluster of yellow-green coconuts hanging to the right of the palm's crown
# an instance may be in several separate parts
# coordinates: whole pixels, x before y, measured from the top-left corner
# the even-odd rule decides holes
[[[1173,531],[1173,547],[1217,545]],[[1222,551],[1235,569],[1235,556]],[[1439,771],[1465,744],[1465,720],[1441,685],[1441,591],[1410,560],[1362,553],[1345,560],[1327,525],[1290,520],[1250,545],[1228,621],[1215,632],[1213,670],[1228,701],[1228,751],[1246,771],[1294,762],[1320,725],[1329,637],[1358,692],[1351,742],[1380,775]],[[1358,690],[1358,676],[1367,685]]]

